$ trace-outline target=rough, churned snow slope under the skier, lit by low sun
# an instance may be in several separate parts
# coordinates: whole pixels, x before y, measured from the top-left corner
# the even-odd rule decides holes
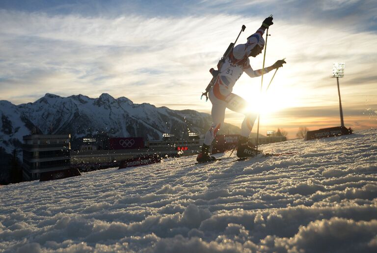
[[[261,149],[2,186],[0,251],[377,252],[377,129]]]

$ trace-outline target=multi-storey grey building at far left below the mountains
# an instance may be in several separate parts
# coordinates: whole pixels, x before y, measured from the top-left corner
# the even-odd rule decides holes
[[[70,135],[24,136],[23,179],[37,180],[46,174],[51,179],[67,177],[64,170],[70,169],[69,140]]]

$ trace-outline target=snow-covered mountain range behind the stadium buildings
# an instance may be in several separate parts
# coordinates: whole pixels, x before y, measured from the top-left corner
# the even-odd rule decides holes
[[[189,130],[203,134],[211,124],[207,113],[134,104],[128,98],[114,99],[106,93],[95,99],[46,94],[34,103],[18,106],[0,101],[0,117],[0,146],[8,153],[19,146],[33,127],[43,134],[71,134],[73,139],[105,132],[112,137],[159,140],[162,133],[183,137]],[[229,124],[221,130],[227,133],[228,129],[230,133],[239,133],[238,127]]]

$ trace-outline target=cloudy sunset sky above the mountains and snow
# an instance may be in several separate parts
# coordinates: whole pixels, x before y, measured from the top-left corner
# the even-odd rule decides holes
[[[260,133],[339,126],[334,62],[347,127],[377,127],[377,3],[373,0],[32,0],[0,2],[0,100],[34,102],[45,93],[108,93],[134,103],[211,112],[200,100],[242,25],[238,43],[270,14],[261,78],[242,75],[233,92],[260,112]],[[263,54],[250,58],[254,69]],[[240,125],[243,115],[226,112]],[[253,132],[256,132],[256,124]]]

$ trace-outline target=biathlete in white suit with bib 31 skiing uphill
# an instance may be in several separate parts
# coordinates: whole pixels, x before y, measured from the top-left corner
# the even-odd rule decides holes
[[[256,57],[262,53],[265,46],[265,40],[262,36],[266,28],[269,28],[271,25],[273,25],[272,17],[266,18],[262,26],[247,38],[245,44],[239,44],[233,48],[232,53],[225,59],[224,64],[219,69],[215,84],[209,91],[209,99],[212,103],[211,114],[213,123],[205,135],[202,150],[196,157],[198,162],[210,162],[214,160],[214,157],[211,157],[208,152],[217,131],[224,123],[226,108],[245,115],[241,125],[241,136],[237,145],[237,156],[248,157],[255,155],[255,149],[249,146],[248,138],[257,115],[246,111],[246,100],[232,93],[232,89],[243,72],[246,72],[249,77],[259,77],[262,75],[262,69],[253,70],[251,68],[248,57]],[[264,69],[264,74],[282,67],[284,63],[286,63],[285,60],[276,61],[273,65]]]

